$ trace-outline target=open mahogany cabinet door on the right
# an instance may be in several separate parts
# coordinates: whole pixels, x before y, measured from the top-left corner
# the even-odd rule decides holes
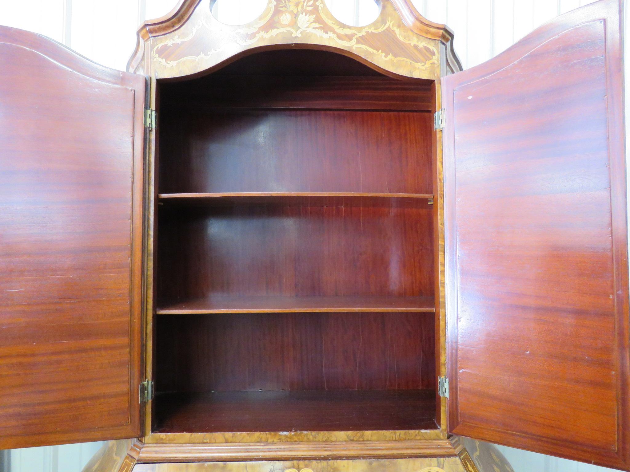
[[[620,5],[446,77],[449,431],[627,469]]]

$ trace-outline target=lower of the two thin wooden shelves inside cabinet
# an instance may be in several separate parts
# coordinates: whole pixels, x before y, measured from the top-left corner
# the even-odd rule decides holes
[[[429,296],[213,296],[166,301],[158,315],[204,313],[418,312],[434,313]]]

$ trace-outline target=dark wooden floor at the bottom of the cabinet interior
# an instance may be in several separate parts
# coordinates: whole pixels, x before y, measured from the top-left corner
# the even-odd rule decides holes
[[[437,429],[433,390],[165,393],[155,432]]]

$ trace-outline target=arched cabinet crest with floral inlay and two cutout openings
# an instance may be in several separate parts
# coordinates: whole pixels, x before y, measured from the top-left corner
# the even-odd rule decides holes
[[[258,18],[238,26],[216,20],[210,3],[180,0],[171,13],[146,21],[127,70],[173,79],[279,48],[329,50],[391,76],[437,79],[461,70],[452,31],[423,18],[410,0],[379,0],[379,16],[365,26],[341,23],[324,0],[268,0]]]

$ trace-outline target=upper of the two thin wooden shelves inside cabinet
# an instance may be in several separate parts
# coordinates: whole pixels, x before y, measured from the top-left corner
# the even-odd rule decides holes
[[[387,206],[427,208],[432,194],[424,193],[340,193],[340,192],[245,192],[245,193],[161,193],[162,205],[232,206]]]

